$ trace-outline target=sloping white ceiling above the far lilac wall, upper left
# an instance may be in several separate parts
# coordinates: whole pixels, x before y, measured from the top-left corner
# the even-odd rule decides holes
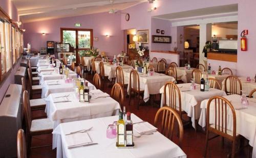
[[[123,10],[146,0],[11,0],[24,23]]]

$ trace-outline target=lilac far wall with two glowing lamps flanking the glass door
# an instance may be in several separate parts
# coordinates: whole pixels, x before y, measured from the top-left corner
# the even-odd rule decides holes
[[[32,50],[39,50],[40,47],[46,47],[48,40],[60,42],[60,28],[75,28],[75,23],[81,23],[81,29],[93,29],[93,36],[99,38],[93,42],[94,47],[108,55],[117,55],[123,50],[120,16],[121,14],[98,13],[25,23],[24,44],[26,46],[30,42]],[[41,33],[46,33],[46,36]],[[106,37],[106,34],[110,37]]]

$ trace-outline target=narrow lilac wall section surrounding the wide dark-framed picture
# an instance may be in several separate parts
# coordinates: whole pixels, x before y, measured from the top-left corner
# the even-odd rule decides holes
[[[170,25],[171,22],[169,20],[162,20],[151,18],[151,35],[159,35],[159,36],[170,36]],[[164,35],[161,33],[157,34],[156,30],[159,29],[164,30]],[[176,41],[176,40],[175,40]],[[173,42],[173,39],[172,39]],[[169,43],[151,43],[152,50],[172,50]]]

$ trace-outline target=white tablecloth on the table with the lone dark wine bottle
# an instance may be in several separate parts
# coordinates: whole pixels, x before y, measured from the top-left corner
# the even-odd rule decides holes
[[[209,91],[201,92],[200,85],[197,85],[196,90],[190,90],[190,85],[191,85],[190,83],[179,84],[178,87],[181,87],[179,88],[180,95],[181,95],[181,108],[187,113],[187,116],[191,117],[192,126],[195,128],[196,127],[195,120],[198,120],[201,114],[201,109],[200,109],[201,101],[216,95],[225,96],[226,93],[222,90],[218,90],[214,88],[210,88]],[[161,107],[163,107],[164,86],[160,89],[160,93],[162,94]]]

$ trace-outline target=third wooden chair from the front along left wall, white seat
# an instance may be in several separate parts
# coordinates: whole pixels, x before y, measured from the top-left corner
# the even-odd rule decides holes
[[[25,87],[25,79],[22,77],[22,94],[26,90]],[[31,110],[44,110],[46,108],[46,101],[45,98],[40,98],[40,99],[30,99],[30,106]]]

